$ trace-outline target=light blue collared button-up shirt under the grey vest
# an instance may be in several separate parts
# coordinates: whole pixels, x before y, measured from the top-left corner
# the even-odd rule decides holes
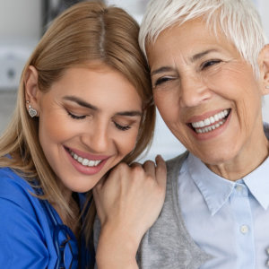
[[[200,269],[268,268],[269,158],[232,182],[190,153],[178,177],[178,195],[191,237],[214,256]]]

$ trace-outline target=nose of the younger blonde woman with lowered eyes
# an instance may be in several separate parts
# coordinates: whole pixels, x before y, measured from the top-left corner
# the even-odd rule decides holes
[[[84,143],[91,152],[105,153],[108,152],[109,134],[108,124],[96,120],[91,122],[87,130],[82,134],[82,143]]]

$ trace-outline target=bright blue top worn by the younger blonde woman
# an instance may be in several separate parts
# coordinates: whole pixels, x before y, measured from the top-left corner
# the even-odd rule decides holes
[[[12,169],[0,169],[0,268],[42,269],[56,266],[58,257],[53,242],[54,225],[44,201],[31,194],[35,191],[25,179]],[[82,201],[84,196],[79,196]],[[56,221],[63,224],[56,211],[48,205]],[[80,248],[81,268],[86,268],[91,257],[84,244]],[[72,251],[77,252],[77,246]],[[72,259],[67,247],[65,268],[69,268]]]

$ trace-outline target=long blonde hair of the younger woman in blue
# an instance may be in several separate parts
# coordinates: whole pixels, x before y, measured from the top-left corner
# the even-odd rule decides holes
[[[40,91],[49,91],[66,69],[91,66],[91,61],[96,60],[124,74],[143,100],[137,143],[124,159],[129,163],[151,143],[155,122],[149,70],[138,45],[138,32],[138,24],[120,8],[100,2],[74,4],[50,25],[23,69],[13,119],[0,138],[0,167],[10,167],[29,181],[37,179],[44,193],[40,198],[58,204],[70,216],[74,214],[39,144],[39,118],[30,118],[25,107],[24,77],[33,65],[39,74]],[[91,203],[84,221],[86,240],[91,237],[94,214]]]

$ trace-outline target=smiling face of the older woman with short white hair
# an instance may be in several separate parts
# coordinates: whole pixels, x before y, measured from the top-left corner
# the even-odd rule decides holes
[[[253,153],[264,135],[262,83],[230,41],[197,19],[164,30],[147,53],[155,103],[190,152],[207,164]]]

